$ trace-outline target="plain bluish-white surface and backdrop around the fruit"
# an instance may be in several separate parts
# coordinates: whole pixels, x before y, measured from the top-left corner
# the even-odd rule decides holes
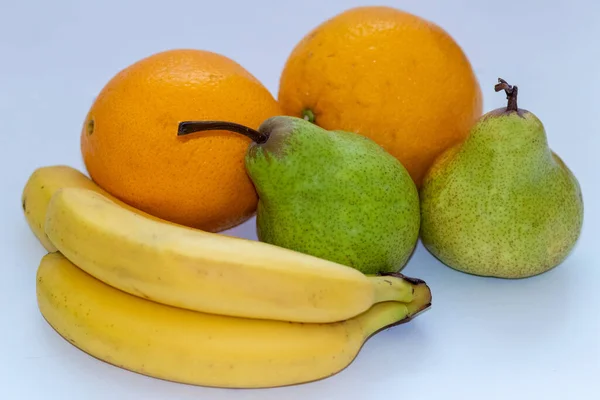
[[[506,281],[455,272],[422,247],[404,272],[433,307],[371,339],[329,379],[269,390],[193,387],[104,364],[42,319],[42,247],[21,214],[34,168],[82,168],[79,131],[119,69],[177,47],[220,52],[276,93],[283,63],[313,26],[345,8],[389,3],[448,30],[470,57],[485,110],[498,76],[546,125],[579,178],[579,244],[560,267]],[[484,4],[485,3],[485,4]],[[600,3],[595,1],[16,1],[0,3],[0,398],[12,399],[597,399],[600,398]],[[251,17],[257,15],[256,17]],[[234,229],[254,238],[254,221]]]

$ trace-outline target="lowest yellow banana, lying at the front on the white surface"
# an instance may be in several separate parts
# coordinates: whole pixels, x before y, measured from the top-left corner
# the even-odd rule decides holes
[[[410,303],[383,302],[330,324],[205,314],[132,296],[93,278],[60,253],[37,272],[39,309],[82,351],[126,370],[193,385],[267,388],[323,379],[345,369],[376,332],[427,309],[415,286]]]

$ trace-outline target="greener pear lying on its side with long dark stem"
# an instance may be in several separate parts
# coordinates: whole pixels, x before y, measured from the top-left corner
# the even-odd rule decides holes
[[[179,134],[226,129],[250,137],[246,171],[259,240],[355,268],[400,271],[419,235],[418,191],[404,166],[359,134],[277,116],[258,131],[188,121]]]

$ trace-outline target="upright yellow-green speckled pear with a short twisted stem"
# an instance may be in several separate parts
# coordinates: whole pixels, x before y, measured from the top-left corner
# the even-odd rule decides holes
[[[517,107],[484,115],[442,154],[421,189],[421,239],[440,261],[482,276],[524,278],[560,264],[583,224],[575,176],[548,147],[542,122]]]

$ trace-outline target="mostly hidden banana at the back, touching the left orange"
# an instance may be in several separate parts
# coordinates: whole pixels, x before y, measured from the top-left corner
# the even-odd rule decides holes
[[[137,210],[111,196],[100,188],[100,186],[96,185],[94,181],[75,168],[66,165],[41,167],[36,169],[27,180],[21,195],[21,202],[29,227],[44,248],[49,252],[56,251],[56,247],[50,242],[44,230],[48,203],[50,202],[52,195],[54,195],[58,189],[67,187],[93,190],[103,194],[132,212],[139,213],[150,219],[162,221],[159,218]],[[171,223],[167,221],[163,222]]]

